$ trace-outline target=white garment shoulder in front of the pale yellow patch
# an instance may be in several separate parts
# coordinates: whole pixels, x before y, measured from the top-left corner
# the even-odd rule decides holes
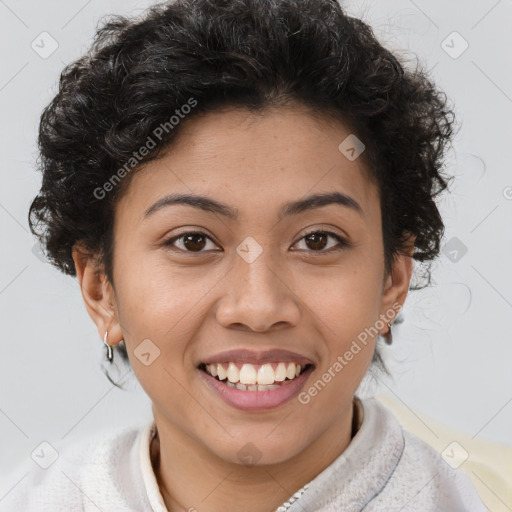
[[[404,430],[393,413],[376,400],[363,401],[374,414],[401,431],[403,450],[386,485],[369,504],[368,512],[401,510],[427,512],[488,512],[470,479],[453,469],[430,445]],[[398,424],[398,427],[397,427]]]

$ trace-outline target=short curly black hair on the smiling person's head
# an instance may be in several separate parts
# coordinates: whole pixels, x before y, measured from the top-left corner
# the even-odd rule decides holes
[[[450,180],[442,171],[455,116],[419,63],[404,68],[333,0],[175,0],[137,18],[108,17],[89,51],[64,68],[42,113],[43,180],[30,229],[66,274],[76,275],[72,248],[81,241],[113,283],[115,205],[149,138],[159,134],[144,163],[194,116],[298,102],[364,141],[361,158],[380,193],[386,271],[412,234],[413,258],[430,284],[428,264],[444,234],[435,198]],[[194,108],[171,126],[191,98]]]

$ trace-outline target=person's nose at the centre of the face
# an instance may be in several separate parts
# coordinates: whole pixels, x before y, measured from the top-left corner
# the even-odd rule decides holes
[[[252,263],[237,258],[226,276],[216,311],[223,327],[263,332],[298,324],[302,308],[290,275],[264,254]]]

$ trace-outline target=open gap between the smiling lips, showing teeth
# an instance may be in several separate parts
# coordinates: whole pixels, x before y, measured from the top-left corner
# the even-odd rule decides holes
[[[249,363],[201,363],[198,369],[230,388],[243,391],[271,391],[286,386],[314,367],[293,362],[274,362],[262,365]]]

